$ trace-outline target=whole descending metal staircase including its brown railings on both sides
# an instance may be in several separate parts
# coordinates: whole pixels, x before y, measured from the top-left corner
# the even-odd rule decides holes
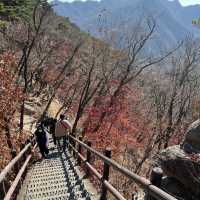
[[[61,153],[50,138],[48,158],[32,164],[26,174],[26,169],[37,146],[34,137],[31,137],[18,154],[13,152],[13,159],[1,171],[0,199],[16,199],[17,195],[17,200],[106,200],[112,195],[118,200],[126,200],[109,181],[109,168],[112,167],[143,189],[141,194],[131,194],[132,199],[142,200],[145,196],[148,200],[177,200],[155,185],[158,183],[157,180],[160,181],[162,178],[162,173],[157,168],[152,170],[151,181],[149,181],[111,159],[111,149],[105,149],[102,154],[93,149],[91,145],[90,141],[83,142],[81,138],[77,139],[68,135],[68,147],[76,156],[75,161],[71,152],[66,150]],[[82,154],[83,149],[86,157]],[[103,162],[103,174],[92,165],[92,155]],[[84,174],[79,170],[81,164],[85,166],[86,177],[93,175],[100,181],[100,194],[97,194],[89,180],[84,178]],[[16,177],[10,182],[7,177],[12,174],[12,170]],[[26,174],[25,179],[24,174]]]

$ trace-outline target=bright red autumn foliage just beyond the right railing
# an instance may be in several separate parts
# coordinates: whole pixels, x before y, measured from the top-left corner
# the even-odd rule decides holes
[[[109,147],[112,158],[120,160],[125,149],[141,148],[145,145],[145,139],[141,142],[137,136],[141,132],[150,134],[150,129],[144,125],[144,114],[134,109],[141,93],[136,89],[123,87],[113,101],[115,81],[111,85],[108,95],[96,97],[93,106],[88,108],[88,117],[83,125],[85,138],[92,142],[93,148],[103,152]],[[96,131],[102,113],[106,114]],[[149,136],[146,139],[148,138]],[[102,171],[102,162],[96,160],[94,164]]]

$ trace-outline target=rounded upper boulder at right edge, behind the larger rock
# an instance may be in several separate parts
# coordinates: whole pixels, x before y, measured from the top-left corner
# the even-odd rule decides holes
[[[189,126],[185,135],[184,144],[190,145],[191,148],[200,152],[200,119]]]

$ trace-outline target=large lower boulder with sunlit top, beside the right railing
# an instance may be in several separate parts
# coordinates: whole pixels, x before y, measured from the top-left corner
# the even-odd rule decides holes
[[[200,197],[200,163],[191,159],[179,145],[163,150],[156,162],[164,174],[176,179],[188,191]]]

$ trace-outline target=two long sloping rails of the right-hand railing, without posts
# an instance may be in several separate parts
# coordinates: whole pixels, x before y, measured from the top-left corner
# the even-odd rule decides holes
[[[123,175],[125,175],[126,177],[128,177],[129,179],[131,179],[133,182],[135,182],[136,184],[140,185],[143,189],[145,189],[146,191],[148,191],[148,194],[150,194],[155,199],[157,199],[157,200],[177,200],[172,195],[168,194],[167,192],[165,192],[162,189],[160,189],[160,188],[156,187],[155,185],[153,185],[148,179],[146,179],[144,177],[141,177],[141,176],[137,175],[136,173],[128,170],[127,168],[123,167],[122,165],[120,165],[119,163],[117,163],[116,161],[114,161],[113,159],[110,159],[110,158],[104,156],[103,154],[101,154],[98,151],[96,151],[95,149],[91,148],[90,146],[88,146],[84,142],[78,140],[74,136],[72,136],[72,135],[68,135],[68,136],[74,142],[77,142],[79,145],[81,145],[82,147],[84,147],[85,149],[87,149],[89,152],[91,152],[95,156],[99,157],[104,163],[106,163],[109,166],[112,166],[114,169],[116,169],[117,171],[121,172]],[[71,148],[73,149],[73,151],[81,158],[81,160],[83,160],[85,162],[85,164],[87,165],[87,167],[96,175],[96,177],[101,180],[102,176],[99,174],[99,172],[97,172],[97,170],[93,166],[91,166],[90,163],[87,162],[87,159],[85,159],[80,154],[80,152],[78,152],[75,149],[75,145],[72,145],[70,143],[69,143],[69,145],[71,146]],[[112,187],[112,189],[115,189],[110,183],[109,184],[108,183],[109,183],[108,181],[103,182],[103,184],[107,187],[107,189],[110,190],[109,187]],[[114,192],[113,195],[115,195],[115,197],[117,197],[117,199],[123,199],[122,196],[120,197],[119,192],[118,193]],[[119,196],[119,198],[118,198],[118,196]]]

